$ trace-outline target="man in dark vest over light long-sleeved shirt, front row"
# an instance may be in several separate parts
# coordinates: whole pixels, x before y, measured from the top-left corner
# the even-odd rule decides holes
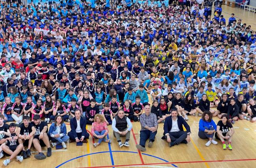
[[[128,127],[127,127],[128,125]],[[117,111],[117,116],[113,119],[112,122],[113,134],[117,138],[117,142],[119,143],[119,147],[129,146],[130,140],[130,131],[132,130],[132,123],[130,119],[124,116],[124,110],[119,109]],[[120,137],[125,136],[125,142],[122,143]]]

